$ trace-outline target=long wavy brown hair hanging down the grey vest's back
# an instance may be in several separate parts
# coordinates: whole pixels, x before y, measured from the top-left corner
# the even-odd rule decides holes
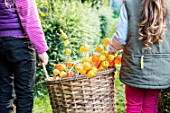
[[[149,47],[162,41],[168,16],[167,0],[144,0],[142,20],[138,23],[140,40]]]

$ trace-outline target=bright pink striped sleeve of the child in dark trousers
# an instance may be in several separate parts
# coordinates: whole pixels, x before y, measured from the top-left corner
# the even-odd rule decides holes
[[[48,50],[35,0],[16,0],[21,24],[38,54]]]

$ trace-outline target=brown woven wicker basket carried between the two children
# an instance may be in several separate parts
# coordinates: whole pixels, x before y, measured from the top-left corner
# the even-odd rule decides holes
[[[116,113],[114,71],[46,80],[53,113]]]

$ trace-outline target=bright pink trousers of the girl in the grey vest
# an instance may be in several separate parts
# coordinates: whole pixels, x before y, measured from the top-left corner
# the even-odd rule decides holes
[[[157,113],[160,90],[125,86],[126,113]]]

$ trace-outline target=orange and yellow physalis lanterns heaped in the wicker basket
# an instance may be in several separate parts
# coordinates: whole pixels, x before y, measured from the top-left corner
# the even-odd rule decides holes
[[[60,30],[61,37],[64,40],[64,46],[69,45],[69,40],[67,35]],[[115,67],[115,64],[121,64],[121,55],[117,53],[108,53],[106,48],[109,45],[110,40],[104,38],[102,44],[98,45],[92,53],[89,53],[91,49],[87,45],[80,47],[79,51],[81,53],[86,53],[84,57],[76,61],[66,61],[63,63],[57,63],[54,65],[53,76],[54,79],[72,77],[76,73],[79,73],[82,76],[87,76],[91,78],[96,75],[97,72],[104,71],[108,68]],[[66,48],[66,55],[71,54],[71,49]]]

